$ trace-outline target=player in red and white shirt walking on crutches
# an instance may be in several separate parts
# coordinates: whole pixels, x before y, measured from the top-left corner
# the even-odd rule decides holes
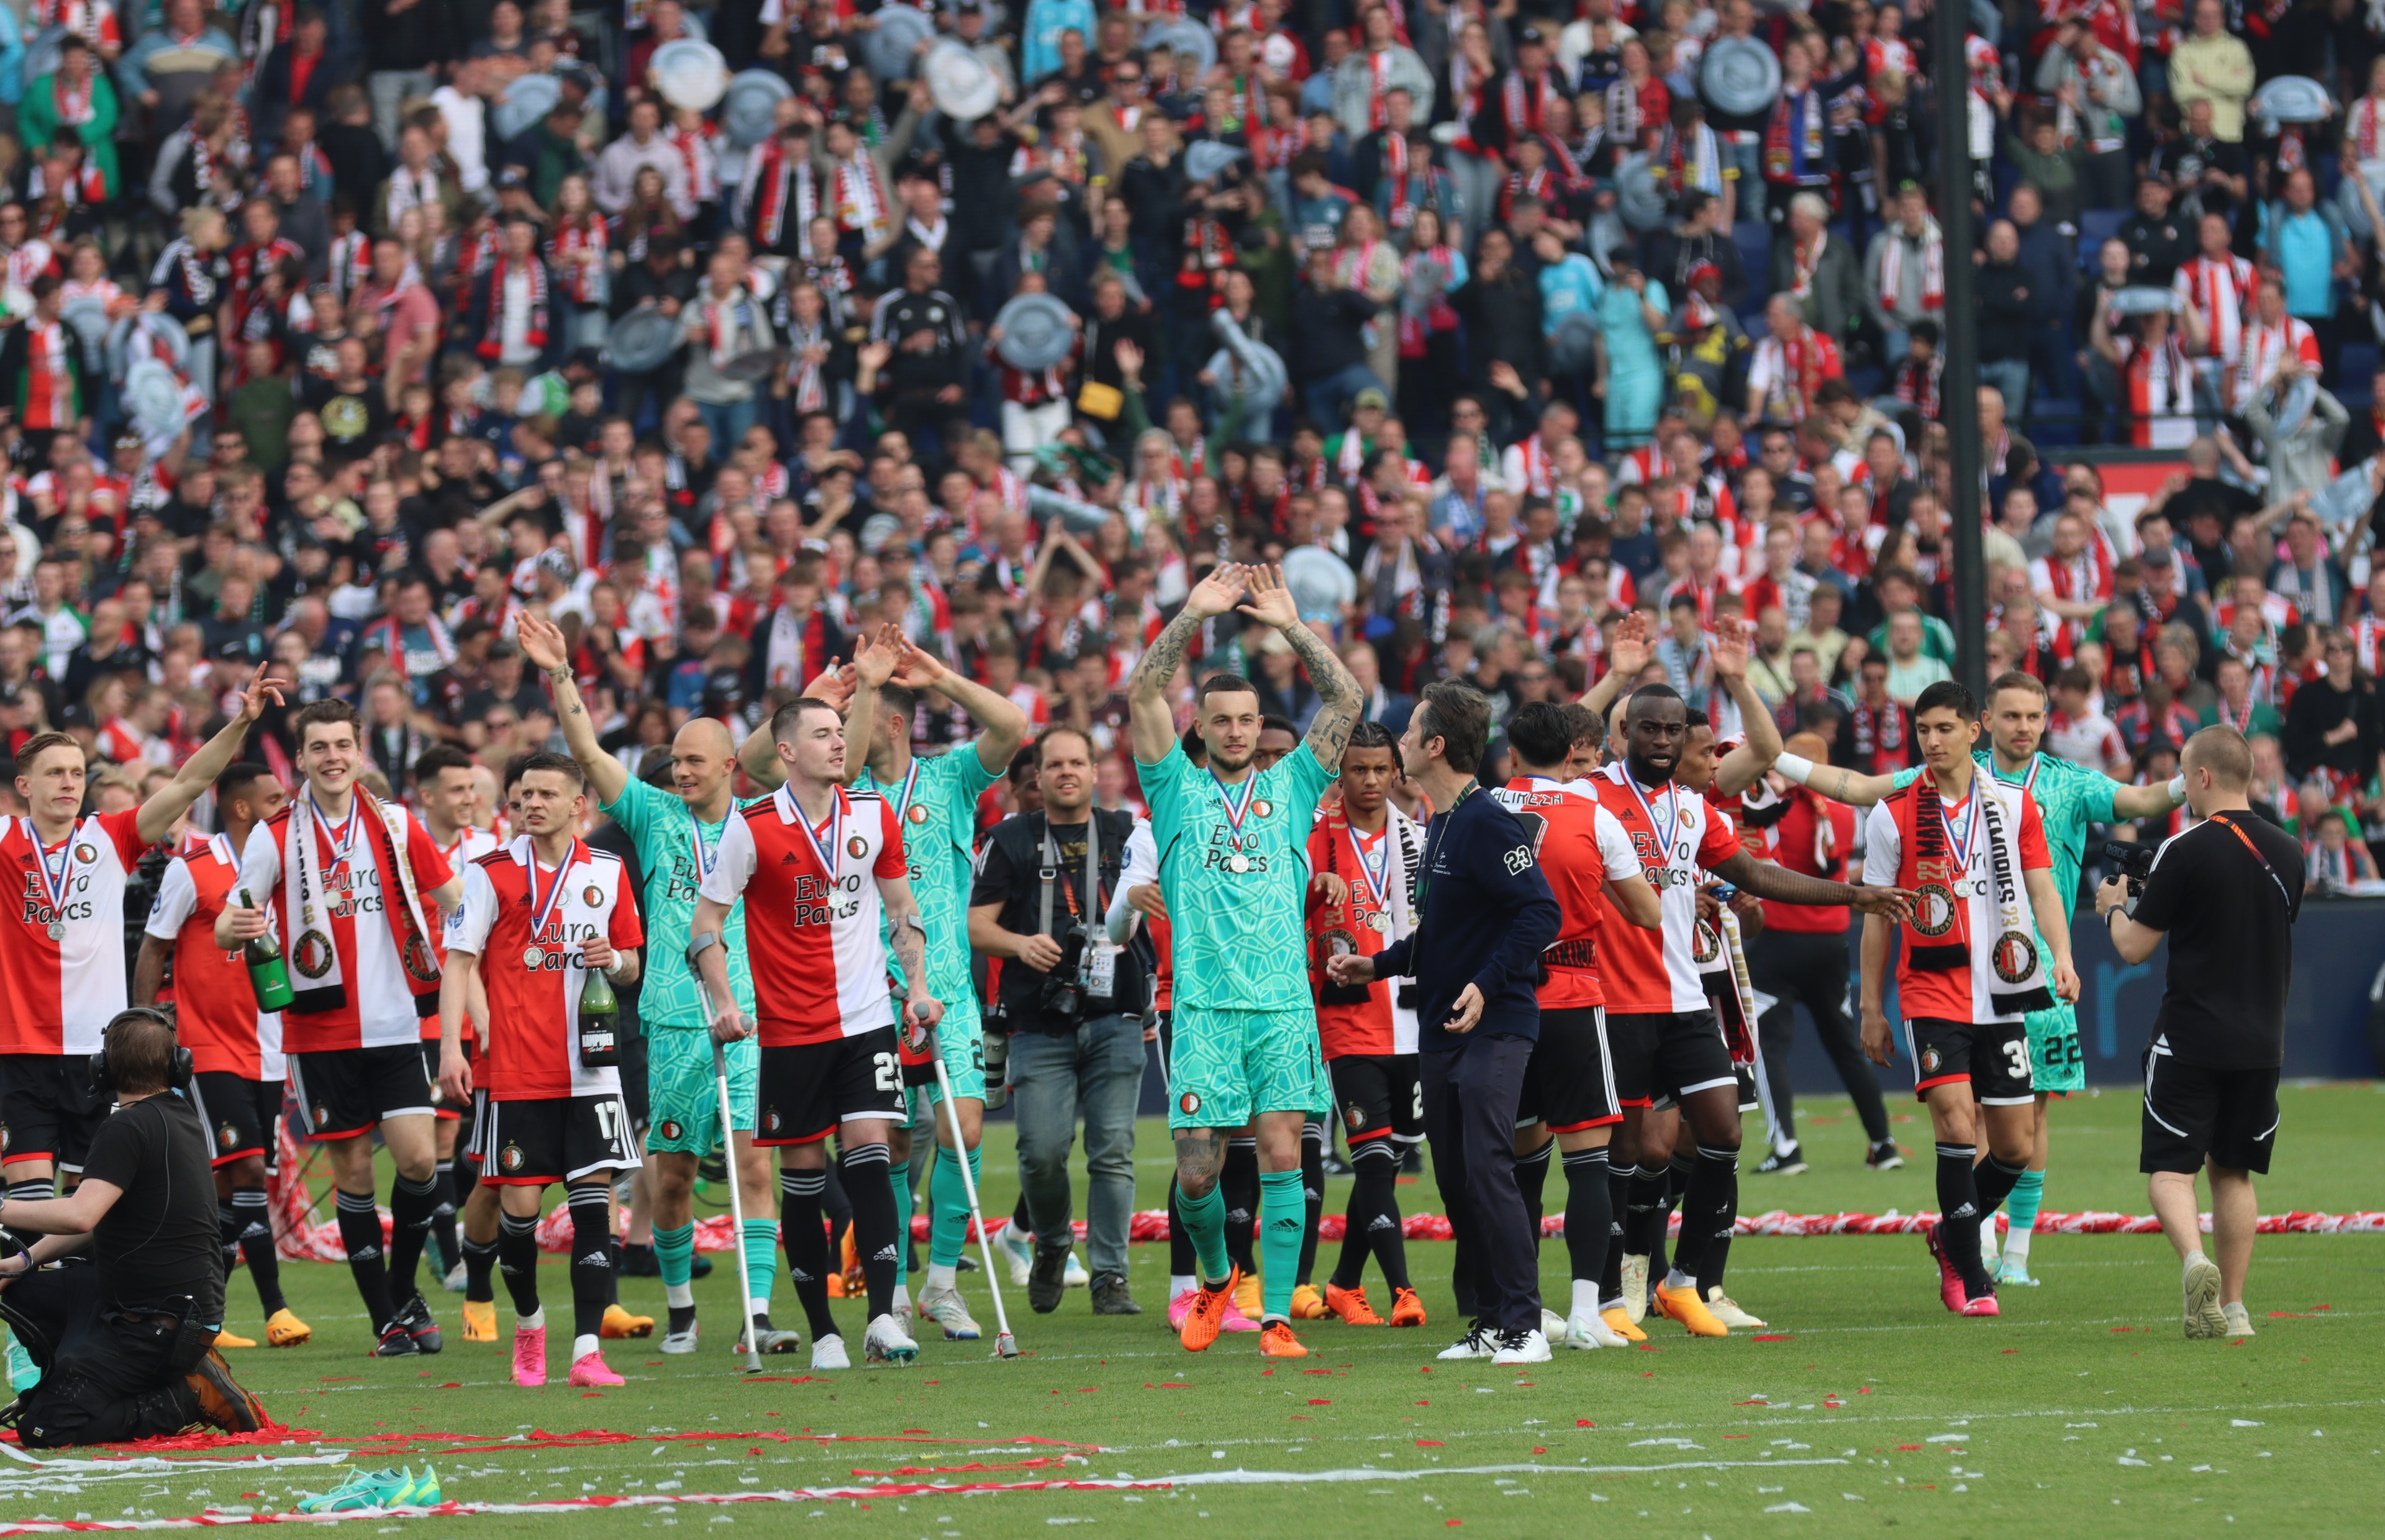
[[[928,1047],[944,1008],[928,989],[925,927],[911,896],[902,822],[875,791],[844,789],[844,720],[799,696],[770,718],[785,784],[742,808],[696,889],[689,958],[713,1001],[713,1037],[761,1037],[754,1142],[780,1151],[780,1228],[787,1275],[811,1316],[811,1366],[849,1368],[828,1314],[828,1237],[820,1192],[828,1135],[854,1204],[854,1244],[868,1278],[868,1361],[909,1364],[918,1342],[894,1318],[894,1182],[887,1140],[909,1109],[902,1087],[887,961],[904,973],[902,1025]],[[720,927],[747,903],[754,1016],[730,989]],[[880,927],[882,925],[882,927]]]

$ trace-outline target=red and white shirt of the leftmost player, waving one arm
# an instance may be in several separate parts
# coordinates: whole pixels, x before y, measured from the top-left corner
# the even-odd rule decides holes
[[[43,849],[31,818],[7,820],[0,870],[19,903],[0,918],[0,1054],[93,1054],[124,1008],[124,877],[148,849],[138,825],[141,808],[100,813]]]

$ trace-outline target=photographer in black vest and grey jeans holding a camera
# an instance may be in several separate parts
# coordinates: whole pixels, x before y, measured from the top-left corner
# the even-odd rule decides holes
[[[1011,1035],[1018,1185],[1037,1237],[1028,1304],[1049,1314],[1066,1290],[1076,1235],[1068,1149],[1083,1118],[1092,1309],[1133,1316],[1126,1230],[1135,1213],[1147,980],[1135,949],[1111,944],[1102,915],[1135,815],[1092,806],[1092,744],[1083,732],[1052,727],[1035,756],[1042,811],[995,825],[968,894],[968,944],[999,965],[987,1025]]]

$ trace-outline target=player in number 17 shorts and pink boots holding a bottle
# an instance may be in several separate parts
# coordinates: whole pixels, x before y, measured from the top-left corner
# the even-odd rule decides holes
[[[613,1178],[637,1166],[620,1094],[618,1023],[584,1023],[580,992],[601,968],[637,980],[637,920],[620,856],[580,839],[587,775],[560,753],[532,753],[515,777],[520,834],[465,868],[439,982],[439,1089],[475,1106],[463,1023],[472,980],[489,992],[487,1097],[472,1147],[498,1190],[496,1252],[513,1294],[513,1383],[546,1383],[539,1302],[539,1211],[563,1185],[572,1216],[572,1385],[620,1385],[603,1361],[613,1287]]]

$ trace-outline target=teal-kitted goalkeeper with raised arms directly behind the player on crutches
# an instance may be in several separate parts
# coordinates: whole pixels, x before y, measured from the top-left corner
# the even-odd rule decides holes
[[[968,975],[968,884],[975,873],[978,799],[1009,770],[1011,756],[1028,737],[1028,715],[992,689],[952,672],[933,653],[899,637],[890,637],[890,644],[897,651],[892,682],[875,682],[868,677],[875,670],[866,670],[844,708],[844,772],[854,784],[885,796],[902,820],[911,894],[928,932],[928,987],[944,1001],[944,1020],[935,1030],[937,1044],[944,1051],[968,1173],[975,1180],[978,1130],[985,1120],[985,1042],[978,987]],[[983,732],[975,744],[959,744],[935,758],[911,753],[911,720],[921,691],[930,689],[978,722]],[[785,777],[766,732],[749,739],[744,763],[761,787],[775,789]],[[737,963],[742,958],[732,949],[732,965]],[[940,1104],[942,1089],[935,1085],[911,1092],[911,1137],[933,1132],[937,1144],[935,1175],[928,1185],[935,1225],[928,1232],[928,1280],[918,1292],[918,1314],[942,1325],[947,1342],[961,1342],[978,1337],[978,1323],[956,1287],[961,1247],[968,1240],[968,1190],[961,1185],[959,1156],[952,1149],[952,1118]],[[897,1170],[909,1161],[909,1147],[899,1135],[892,1156]],[[911,1235],[911,1182],[897,1178],[894,1216],[904,1237]],[[902,1273],[897,1259],[897,1280]],[[897,1283],[894,1290],[899,1314],[909,1290],[906,1283]]]

